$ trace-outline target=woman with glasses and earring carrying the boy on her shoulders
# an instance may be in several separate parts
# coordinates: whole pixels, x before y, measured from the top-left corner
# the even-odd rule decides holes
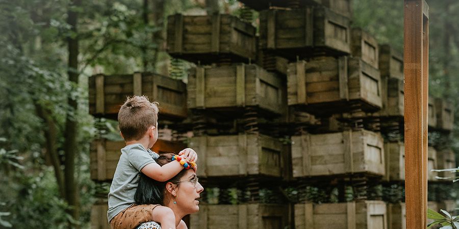
[[[172,161],[173,153],[161,154],[157,163],[161,166]],[[159,204],[172,209],[177,229],[188,228],[182,218],[199,211],[200,193],[204,188],[199,184],[193,169],[183,169],[166,182],[159,182],[140,174],[135,194],[137,204]],[[140,224],[141,228],[161,228],[156,222]]]

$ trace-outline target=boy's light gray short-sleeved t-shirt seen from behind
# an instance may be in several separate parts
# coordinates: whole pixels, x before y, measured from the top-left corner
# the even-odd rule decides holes
[[[121,156],[108,194],[109,222],[122,210],[134,204],[140,170],[149,163],[156,163],[158,157],[157,153],[145,149],[141,144],[133,144],[121,149]]]

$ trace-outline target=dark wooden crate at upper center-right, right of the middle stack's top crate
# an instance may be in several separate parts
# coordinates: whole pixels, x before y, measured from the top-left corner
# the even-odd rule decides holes
[[[324,7],[260,12],[260,45],[289,60],[350,53],[349,19]]]

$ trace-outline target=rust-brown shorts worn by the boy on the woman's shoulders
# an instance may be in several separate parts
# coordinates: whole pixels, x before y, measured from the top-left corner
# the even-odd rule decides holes
[[[143,222],[155,221],[153,209],[161,205],[132,205],[116,215],[111,221],[112,229],[134,229]],[[171,210],[172,211],[172,210]]]

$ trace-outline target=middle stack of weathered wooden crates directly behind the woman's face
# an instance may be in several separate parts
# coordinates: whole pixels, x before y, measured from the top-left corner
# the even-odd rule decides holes
[[[191,215],[190,228],[288,225],[288,206],[268,205],[259,196],[262,186],[276,187],[282,181],[286,147],[258,123],[286,116],[286,80],[278,74],[286,69],[282,64],[286,60],[270,55],[272,71],[251,64],[263,65],[256,58],[267,55],[257,52],[256,28],[226,14],[169,16],[167,47],[175,58],[197,64],[189,72],[187,86],[194,125],[189,147],[198,152],[197,175],[206,188],[220,188],[218,205],[202,204]],[[228,205],[227,189],[234,187],[248,190],[249,201],[238,199],[238,205]]]

